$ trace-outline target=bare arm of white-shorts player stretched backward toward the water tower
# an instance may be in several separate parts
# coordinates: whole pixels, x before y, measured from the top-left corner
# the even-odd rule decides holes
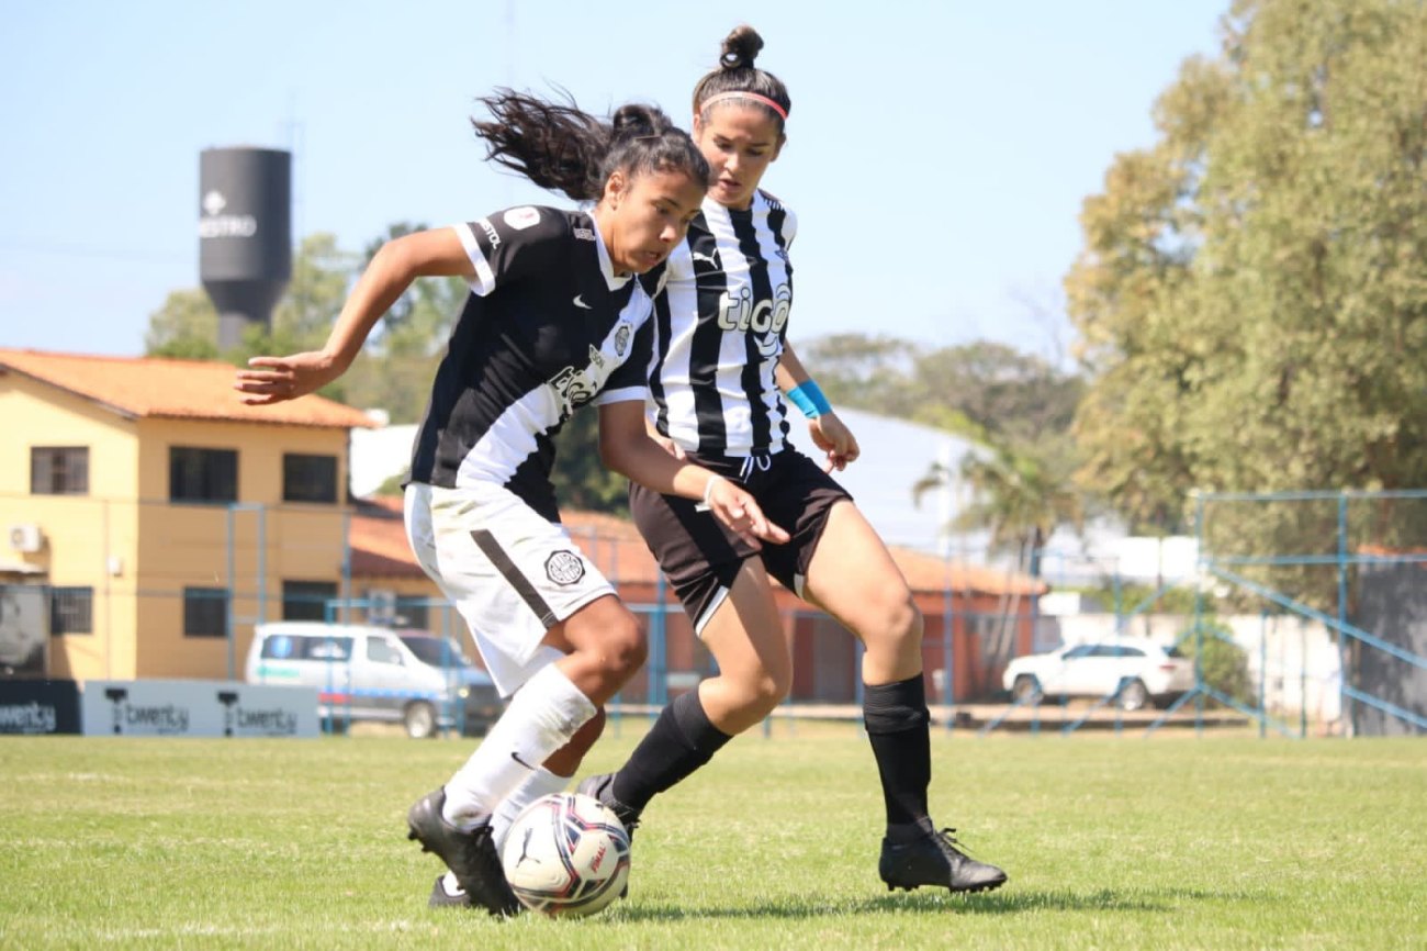
[[[454,228],[417,231],[381,246],[342,306],[321,350],[287,357],[253,357],[233,388],[250,406],[295,400],[321,390],[351,366],[371,328],[418,277],[474,277],[475,268]]]

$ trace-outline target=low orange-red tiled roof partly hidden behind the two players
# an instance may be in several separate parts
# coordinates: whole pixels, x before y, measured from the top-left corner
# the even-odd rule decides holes
[[[351,520],[351,570],[354,577],[412,578],[424,573],[411,554],[401,523],[401,500],[375,497],[364,501],[365,511]],[[654,584],[658,565],[634,523],[592,511],[561,513],[579,548],[606,578],[622,584]],[[913,591],[976,594],[1043,594],[1043,583],[1023,574],[943,561],[919,551],[893,548],[896,561]]]

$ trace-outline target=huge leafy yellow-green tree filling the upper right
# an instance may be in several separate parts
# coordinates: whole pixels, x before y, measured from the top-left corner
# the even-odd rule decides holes
[[[1086,200],[1066,278],[1080,478],[1142,525],[1193,488],[1427,484],[1427,4],[1239,0],[1223,36]],[[1266,510],[1222,527],[1323,544]]]

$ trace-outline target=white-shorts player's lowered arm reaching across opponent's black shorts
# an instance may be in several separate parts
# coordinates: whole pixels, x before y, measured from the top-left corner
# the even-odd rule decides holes
[[[755,548],[761,541],[783,544],[788,533],[768,521],[746,491],[682,458],[649,438],[642,401],[605,403],[599,407],[599,458],[621,476],[665,495],[702,500],[709,511]]]

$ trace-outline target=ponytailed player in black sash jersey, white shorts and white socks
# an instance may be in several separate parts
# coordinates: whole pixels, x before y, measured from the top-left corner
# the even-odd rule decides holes
[[[645,430],[652,298],[708,184],[708,163],[664,113],[611,124],[571,104],[501,91],[477,121],[489,157],[588,211],[518,207],[387,243],[320,351],[255,357],[235,387],[253,404],[313,393],[351,364],[377,320],[420,276],[459,274],[471,294],[437,370],[405,495],[407,535],[467,624],[505,714],[441,788],[408,812],[437,852],[431,904],[514,914],[497,852],[499,817],[564,788],[598,738],[602,705],[645,658],[628,608],[559,524],[551,437],[599,406],[605,463],[659,493],[708,505],[751,545],[788,534],[752,497],[676,460]],[[461,894],[464,891],[464,894]]]

